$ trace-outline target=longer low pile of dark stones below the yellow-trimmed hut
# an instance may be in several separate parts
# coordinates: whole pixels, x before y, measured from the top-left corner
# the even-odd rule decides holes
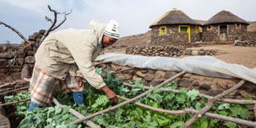
[[[142,56],[182,56],[183,46],[133,46],[126,49],[126,54]]]

